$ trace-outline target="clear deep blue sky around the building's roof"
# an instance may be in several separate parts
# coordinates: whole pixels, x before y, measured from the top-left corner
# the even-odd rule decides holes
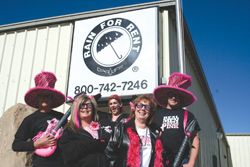
[[[0,25],[143,2],[150,0],[8,0]],[[250,1],[182,3],[225,132],[250,133]]]

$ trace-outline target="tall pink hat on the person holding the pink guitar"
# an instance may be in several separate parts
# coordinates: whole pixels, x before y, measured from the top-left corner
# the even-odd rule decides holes
[[[51,72],[41,72],[35,76],[36,87],[31,88],[25,94],[25,102],[35,108],[39,107],[39,98],[41,95],[48,95],[52,98],[51,108],[56,108],[62,105],[66,97],[65,95],[54,89],[56,83],[56,76]]]

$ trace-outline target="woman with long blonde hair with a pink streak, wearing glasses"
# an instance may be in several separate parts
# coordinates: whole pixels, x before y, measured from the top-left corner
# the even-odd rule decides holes
[[[102,124],[94,97],[81,94],[72,105],[71,119],[60,139],[64,167],[105,167],[104,149],[111,127]]]

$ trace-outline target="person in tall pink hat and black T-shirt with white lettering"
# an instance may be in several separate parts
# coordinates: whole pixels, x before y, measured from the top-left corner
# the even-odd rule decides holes
[[[154,90],[156,102],[160,109],[156,111],[154,123],[162,129],[162,142],[166,152],[167,165],[173,166],[179,148],[186,135],[186,125],[192,120],[196,120],[194,115],[183,109],[191,105],[196,97],[187,88],[191,86],[191,77],[182,73],[172,73],[169,77],[168,85],[158,86]],[[192,148],[184,151],[183,167],[194,167],[199,150],[199,125],[195,127],[192,135]]]

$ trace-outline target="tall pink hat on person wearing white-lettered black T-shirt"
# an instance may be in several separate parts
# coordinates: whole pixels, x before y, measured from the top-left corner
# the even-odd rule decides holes
[[[163,107],[166,106],[169,93],[176,93],[181,97],[181,107],[192,104],[197,98],[187,88],[191,86],[191,77],[186,74],[174,72],[169,77],[167,85],[160,85],[154,90],[154,98]]]

